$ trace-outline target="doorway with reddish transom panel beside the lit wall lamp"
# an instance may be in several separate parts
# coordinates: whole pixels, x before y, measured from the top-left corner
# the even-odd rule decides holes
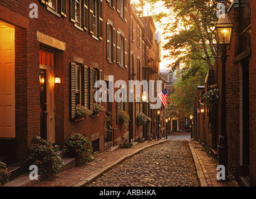
[[[40,136],[55,142],[54,52],[40,50]]]

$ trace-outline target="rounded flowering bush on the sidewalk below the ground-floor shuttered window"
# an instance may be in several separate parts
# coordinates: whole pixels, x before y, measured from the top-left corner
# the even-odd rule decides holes
[[[63,150],[67,156],[76,157],[78,165],[86,164],[95,159],[92,152],[91,141],[77,132],[72,132],[72,134],[66,138]]]

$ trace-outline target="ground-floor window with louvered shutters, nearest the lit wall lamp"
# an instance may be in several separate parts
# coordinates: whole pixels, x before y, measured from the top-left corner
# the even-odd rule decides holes
[[[79,63],[71,63],[71,119],[77,118],[77,104],[93,110],[93,105],[96,102],[94,83],[97,80],[102,80],[101,70],[82,66]]]

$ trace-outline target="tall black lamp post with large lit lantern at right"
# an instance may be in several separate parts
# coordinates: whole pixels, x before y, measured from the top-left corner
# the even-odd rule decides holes
[[[222,1],[225,5],[225,1]],[[233,24],[230,20],[229,15],[225,12],[220,14],[217,24],[215,24],[217,46],[222,55],[220,56],[222,62],[222,100],[221,100],[221,132],[219,137],[219,165],[225,167],[225,179],[219,180],[225,182],[227,180],[227,159],[228,159],[228,146],[227,146],[227,135],[226,135],[226,76],[225,76],[225,64],[227,61],[227,48],[230,46],[231,37],[233,32]]]

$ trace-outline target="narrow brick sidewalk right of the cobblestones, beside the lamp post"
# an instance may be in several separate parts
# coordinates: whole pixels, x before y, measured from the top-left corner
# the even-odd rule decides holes
[[[201,144],[189,141],[189,147],[194,158],[201,187],[239,187],[235,180],[232,182],[217,182],[217,162],[202,150],[204,147]]]

